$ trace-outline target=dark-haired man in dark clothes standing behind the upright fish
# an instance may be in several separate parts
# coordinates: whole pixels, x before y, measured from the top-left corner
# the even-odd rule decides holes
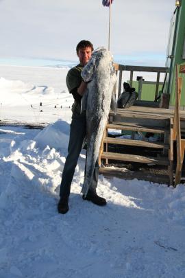
[[[87,64],[88,60],[93,52],[93,44],[88,40],[81,40],[76,47],[77,56],[79,58],[79,65],[69,70],[66,76],[66,85],[69,89],[69,93],[72,93],[74,97],[73,115],[71,121],[71,130],[69,137],[68,156],[66,157],[66,163],[62,174],[62,182],[60,185],[60,201],[58,203],[58,212],[66,213],[69,211],[69,195],[71,189],[71,183],[77,165],[77,159],[82,150],[82,144],[86,137],[86,111],[81,113],[81,100],[84,95],[87,84],[82,80],[81,72],[83,67]],[[93,182],[89,187],[88,194],[82,198],[89,200],[96,205],[106,205],[106,199],[97,195],[97,182],[99,176],[99,165],[96,163],[95,172],[93,174]]]

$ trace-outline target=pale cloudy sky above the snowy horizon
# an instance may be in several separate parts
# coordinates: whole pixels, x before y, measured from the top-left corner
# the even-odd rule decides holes
[[[175,0],[114,0],[110,51],[124,65],[164,66]],[[0,60],[76,61],[79,40],[108,47],[101,0],[0,0]]]

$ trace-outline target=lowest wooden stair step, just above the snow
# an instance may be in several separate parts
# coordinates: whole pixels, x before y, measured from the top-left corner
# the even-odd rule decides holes
[[[132,172],[130,170],[126,170],[125,168],[118,167],[100,167],[99,174],[103,174],[105,176],[118,176],[119,178],[125,179],[134,179],[151,181],[154,183],[165,183],[169,185],[169,175],[168,174],[151,174],[148,171],[145,172]]]

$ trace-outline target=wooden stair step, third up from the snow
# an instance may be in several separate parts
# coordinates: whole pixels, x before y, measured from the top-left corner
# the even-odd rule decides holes
[[[162,142],[149,142],[143,140],[132,140],[132,139],[122,139],[122,138],[112,138],[112,137],[105,137],[103,142],[117,144],[117,145],[133,146],[133,147],[138,146],[138,147],[158,148],[158,149],[169,148],[168,144],[164,144]]]

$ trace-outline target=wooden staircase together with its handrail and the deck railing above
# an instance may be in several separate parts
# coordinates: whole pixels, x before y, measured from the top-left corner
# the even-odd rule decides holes
[[[110,111],[108,124],[103,135],[99,152],[100,174],[106,176],[119,176],[122,178],[138,178],[156,183],[176,185],[180,183],[182,163],[185,152],[185,111],[180,111],[181,80],[178,73],[184,73],[176,69],[176,104],[174,109],[158,108],[156,102],[160,73],[166,73],[166,68],[138,67],[114,64],[118,76],[118,92],[121,94],[123,74],[130,71],[130,86],[132,86],[134,71],[157,73],[156,93],[153,102],[136,101],[136,106],[126,109],[117,109],[116,115]],[[182,66],[184,67],[184,66]],[[114,88],[114,91],[116,89]],[[160,107],[166,107],[160,105]],[[179,113],[179,115],[177,115]],[[178,116],[178,117],[177,117]],[[112,137],[110,130],[122,130],[132,132],[132,138]],[[134,138],[136,132],[152,132],[158,134],[159,141],[151,142],[145,137],[140,140]],[[173,182],[173,142],[177,143],[177,169],[175,183]],[[140,151],[138,151],[140,150]],[[146,151],[147,150],[147,151]],[[153,151],[154,150],[154,151]],[[126,165],[134,167],[126,167]],[[138,165],[138,167],[136,167]]]

